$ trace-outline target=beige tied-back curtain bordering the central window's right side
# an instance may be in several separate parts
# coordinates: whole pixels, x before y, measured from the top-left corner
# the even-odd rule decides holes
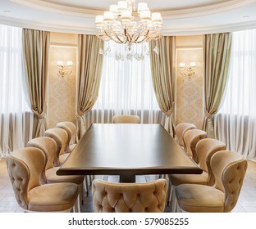
[[[153,52],[158,47],[159,54]],[[153,79],[153,89],[158,100],[158,106],[167,115],[165,128],[175,137],[174,131],[174,101],[175,101],[175,37],[162,37],[150,43],[150,61]]]

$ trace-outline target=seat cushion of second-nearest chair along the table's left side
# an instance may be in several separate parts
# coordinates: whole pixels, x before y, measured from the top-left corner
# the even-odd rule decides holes
[[[56,174],[59,167],[49,168],[45,171],[45,176],[48,183],[57,183],[57,182],[72,182],[77,185],[80,185],[85,176],[84,175],[66,175],[66,176],[58,176]]]

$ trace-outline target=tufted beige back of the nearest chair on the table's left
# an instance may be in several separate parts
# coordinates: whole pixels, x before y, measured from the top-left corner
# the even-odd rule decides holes
[[[22,209],[29,207],[28,192],[35,186],[40,186],[45,160],[42,150],[33,147],[15,150],[7,155],[7,171],[17,203]]]

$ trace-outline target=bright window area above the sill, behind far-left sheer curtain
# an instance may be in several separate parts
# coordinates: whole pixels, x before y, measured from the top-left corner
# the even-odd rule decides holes
[[[0,25],[0,105],[1,113],[29,111],[22,91],[21,28]]]

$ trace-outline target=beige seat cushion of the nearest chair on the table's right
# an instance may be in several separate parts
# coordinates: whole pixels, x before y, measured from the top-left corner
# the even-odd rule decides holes
[[[225,195],[212,186],[182,184],[176,186],[178,205],[185,212],[223,213]]]

